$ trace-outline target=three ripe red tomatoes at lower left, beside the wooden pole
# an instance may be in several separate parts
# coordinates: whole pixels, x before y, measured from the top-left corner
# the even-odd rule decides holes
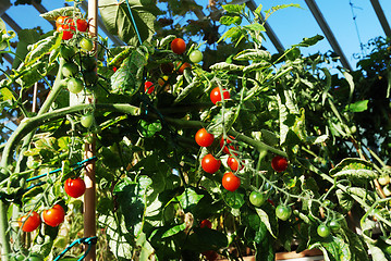
[[[64,190],[70,197],[78,198],[85,192],[86,185],[80,177],[68,178],[64,183]],[[36,211],[30,211],[21,216],[17,223],[23,232],[33,232],[40,226],[41,221],[49,226],[56,227],[64,222],[64,209],[60,204],[54,204],[52,208],[44,210],[40,216]]]

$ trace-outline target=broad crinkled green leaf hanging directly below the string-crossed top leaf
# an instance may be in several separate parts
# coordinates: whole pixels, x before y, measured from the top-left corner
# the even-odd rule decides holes
[[[148,57],[146,48],[132,50],[122,66],[111,76],[111,88],[114,94],[134,96],[138,91]]]

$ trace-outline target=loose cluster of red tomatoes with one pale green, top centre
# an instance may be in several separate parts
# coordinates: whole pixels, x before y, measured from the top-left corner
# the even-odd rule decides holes
[[[176,54],[184,54],[186,51],[186,42],[182,38],[175,38],[171,41],[171,50],[172,52]],[[199,63],[203,61],[203,52],[199,50],[192,50],[186,59],[188,59],[192,63]],[[192,65],[188,62],[182,62],[178,61],[174,63],[164,63],[161,64],[160,69],[163,74],[171,74],[173,72],[176,72],[178,74],[183,74],[186,69],[191,69]],[[169,76],[163,75],[158,79],[158,84],[160,87],[167,86],[167,82],[169,79]],[[150,80],[145,82],[144,84],[144,91],[148,95],[152,94],[155,91],[155,84]]]

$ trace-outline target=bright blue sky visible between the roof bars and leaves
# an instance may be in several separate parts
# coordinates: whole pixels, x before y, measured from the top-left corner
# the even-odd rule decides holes
[[[204,7],[207,4],[206,0],[196,0],[196,2]],[[302,41],[304,37],[311,37],[317,34],[322,35],[320,27],[304,0],[255,0],[255,2],[262,4],[264,10],[268,10],[277,4],[286,3],[298,3],[302,7],[302,9],[289,8],[278,11],[268,20],[285,48]],[[374,37],[384,36],[369,0],[317,0],[316,2],[353,67],[355,67],[357,62],[353,54],[361,53],[361,48],[350,3],[352,2],[355,7],[354,12],[358,34],[363,44],[367,44],[367,41]],[[64,1],[62,0],[42,0],[44,7],[48,10],[63,7],[63,3]],[[391,1],[380,0],[380,4],[388,20],[391,21]],[[7,13],[13,17],[22,28],[41,26],[45,32],[52,28],[48,22],[39,17],[38,11],[30,5],[11,7]],[[264,46],[270,52],[276,52],[269,39],[264,42]],[[318,51],[326,52],[330,49],[330,45],[327,39],[325,39],[315,47],[302,49],[302,52],[305,54]]]

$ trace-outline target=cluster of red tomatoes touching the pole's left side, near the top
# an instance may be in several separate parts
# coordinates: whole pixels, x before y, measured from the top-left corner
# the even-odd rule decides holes
[[[89,23],[85,18],[59,16],[56,20],[57,32],[62,33],[63,40],[70,40],[76,32],[86,33]]]

